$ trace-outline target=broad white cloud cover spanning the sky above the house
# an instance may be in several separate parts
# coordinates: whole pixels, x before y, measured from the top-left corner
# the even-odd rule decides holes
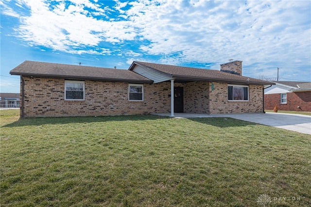
[[[18,0],[29,16],[1,3],[2,14],[20,19],[17,32],[28,44],[77,54],[116,51],[98,49],[106,42],[119,46],[127,63],[145,54],[167,64],[215,63],[212,69],[228,59],[265,69],[311,64],[307,0],[116,0],[110,7],[105,1],[51,2]],[[137,43],[129,51],[122,48],[126,41]]]

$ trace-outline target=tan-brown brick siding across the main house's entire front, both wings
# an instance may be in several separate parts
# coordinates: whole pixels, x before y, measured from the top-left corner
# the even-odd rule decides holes
[[[65,100],[65,80],[24,79],[24,116],[87,116],[171,111],[171,83],[143,84],[144,100],[128,100],[127,82],[85,80],[85,100]],[[263,86],[249,86],[249,101],[228,101],[227,83],[175,83],[184,87],[184,112],[244,113],[262,112]],[[22,87],[21,87],[22,90]]]

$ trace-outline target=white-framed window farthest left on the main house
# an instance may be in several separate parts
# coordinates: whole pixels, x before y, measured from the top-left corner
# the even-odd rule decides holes
[[[65,80],[65,100],[84,100],[84,81]]]

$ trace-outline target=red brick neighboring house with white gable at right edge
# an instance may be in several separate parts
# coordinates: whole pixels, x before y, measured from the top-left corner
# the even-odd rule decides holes
[[[273,81],[264,90],[264,108],[273,110],[311,111],[311,82]]]

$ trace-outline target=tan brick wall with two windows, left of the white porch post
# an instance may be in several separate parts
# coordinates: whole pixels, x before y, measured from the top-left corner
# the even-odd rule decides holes
[[[64,79],[24,77],[24,116],[170,112],[170,88],[169,82],[144,84],[144,100],[129,101],[128,83],[126,82],[85,80],[85,100],[69,101],[64,100]]]

